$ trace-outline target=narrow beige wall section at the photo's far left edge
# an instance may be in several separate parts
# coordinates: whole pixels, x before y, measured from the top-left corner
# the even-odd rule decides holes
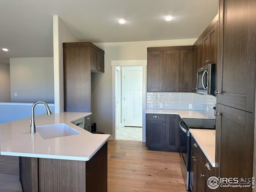
[[[10,64],[0,63],[0,102],[11,102]]]

